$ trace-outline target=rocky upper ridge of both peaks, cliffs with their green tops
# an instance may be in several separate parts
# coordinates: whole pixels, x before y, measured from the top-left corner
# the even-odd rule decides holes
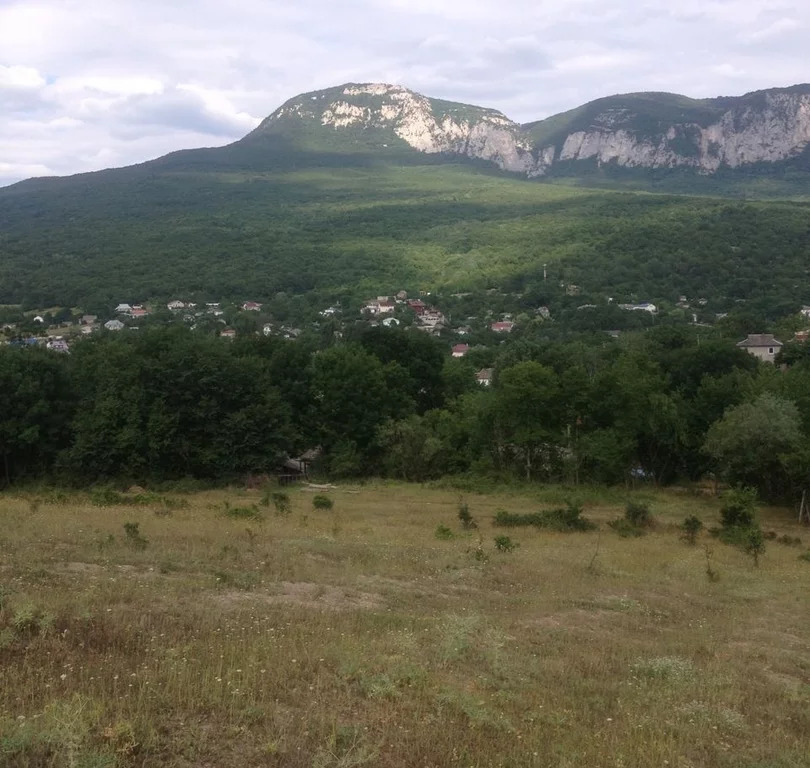
[[[656,96],[670,107],[678,100],[682,108],[662,119]],[[642,111],[633,106],[634,99],[644,105]],[[571,114],[575,117],[555,131],[554,140],[545,142],[536,138],[543,135],[543,123],[529,130],[496,110],[430,99],[401,86],[366,83],[296,97],[258,131],[272,132],[291,121],[338,135],[349,128],[375,129],[419,152],[486,160],[528,177],[576,161],[713,173],[722,167],[787,160],[810,145],[810,86],[702,101],[634,94],[592,102]]]

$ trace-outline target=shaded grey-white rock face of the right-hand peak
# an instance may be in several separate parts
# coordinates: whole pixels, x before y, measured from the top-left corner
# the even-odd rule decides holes
[[[604,124],[604,117],[600,115],[596,122]],[[676,151],[672,142],[679,138],[694,151]],[[694,123],[673,126],[656,139],[638,139],[625,129],[578,131],[566,138],[558,159],[596,158],[602,163],[645,168],[687,166],[713,173],[723,165],[738,168],[786,160],[808,143],[810,96],[775,93],[766,94],[764,109],[732,109],[706,128]]]

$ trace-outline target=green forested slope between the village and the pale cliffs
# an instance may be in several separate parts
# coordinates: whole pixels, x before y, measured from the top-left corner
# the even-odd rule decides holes
[[[526,287],[544,263],[617,298],[808,300],[807,205],[295,157],[234,145],[0,190],[0,303]]]

